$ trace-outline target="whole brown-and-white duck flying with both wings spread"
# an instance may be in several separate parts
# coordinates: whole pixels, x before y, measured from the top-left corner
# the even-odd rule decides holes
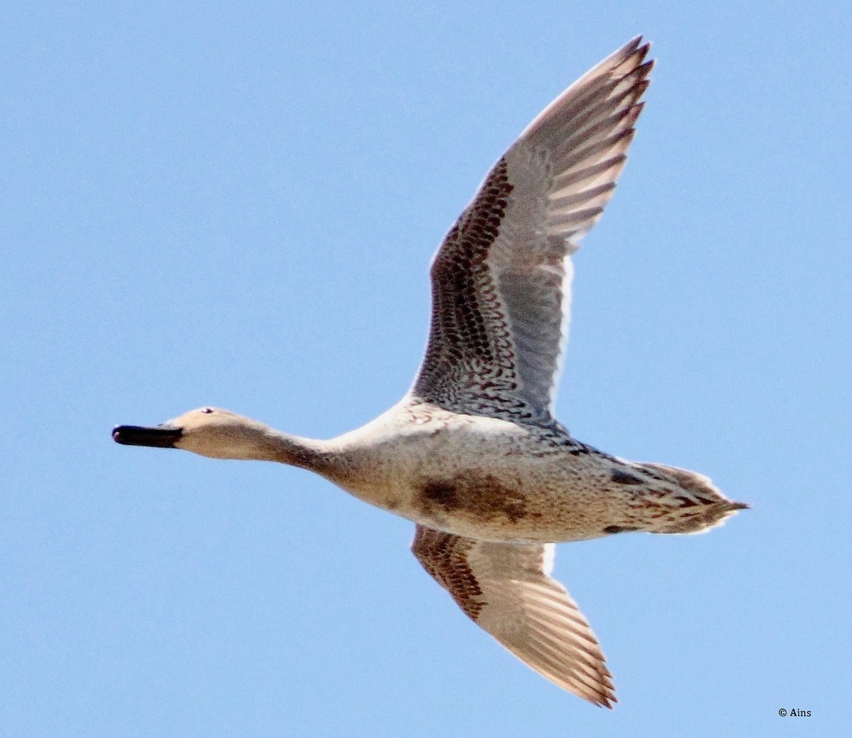
[[[112,438],[298,466],[412,521],[412,553],[465,615],[558,687],[613,707],[601,645],[551,576],[556,543],[698,533],[748,507],[703,474],[582,443],[554,412],[571,256],[625,166],[649,49],[636,37],[586,72],[487,174],[432,261],[429,341],[399,403],[329,440],[216,407]]]

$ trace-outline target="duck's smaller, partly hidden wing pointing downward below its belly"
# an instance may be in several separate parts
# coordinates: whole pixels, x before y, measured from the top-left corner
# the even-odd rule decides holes
[[[601,647],[565,587],[554,544],[492,543],[417,526],[412,552],[478,626],[563,689],[612,707]]]

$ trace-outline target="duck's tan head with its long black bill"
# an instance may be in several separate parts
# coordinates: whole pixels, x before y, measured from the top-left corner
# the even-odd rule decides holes
[[[185,449],[211,459],[256,459],[268,427],[229,410],[190,410],[159,426],[115,426],[112,440],[128,446]]]

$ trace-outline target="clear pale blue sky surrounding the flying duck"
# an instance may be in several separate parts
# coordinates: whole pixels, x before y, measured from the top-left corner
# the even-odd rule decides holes
[[[848,729],[849,3],[3,15],[0,735]],[[557,410],[753,509],[560,546],[609,712],[468,621],[411,523],[308,472],[110,430],[215,404],[328,438],[394,403],[441,237],[637,33],[658,66],[575,258]]]

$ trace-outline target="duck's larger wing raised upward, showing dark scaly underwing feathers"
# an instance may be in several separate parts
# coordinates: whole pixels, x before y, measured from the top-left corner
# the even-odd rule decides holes
[[[635,38],[530,123],[432,263],[432,325],[412,392],[447,409],[550,420],[567,340],[567,258],[625,164],[653,62]]]

